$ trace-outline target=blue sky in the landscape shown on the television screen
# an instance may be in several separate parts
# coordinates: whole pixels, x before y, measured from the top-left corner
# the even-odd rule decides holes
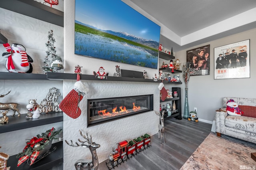
[[[84,24],[159,42],[160,26],[121,0],[76,0],[75,12],[75,20]]]

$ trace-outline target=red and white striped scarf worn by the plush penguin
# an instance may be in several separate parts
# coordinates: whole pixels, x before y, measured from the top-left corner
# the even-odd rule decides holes
[[[12,50],[12,48],[11,48],[11,46],[10,46],[10,44],[9,43],[4,43],[3,44],[4,45],[4,47],[5,47],[5,49],[6,49],[6,51],[8,52],[8,53],[21,53],[21,63],[20,63],[20,65],[22,66],[22,67],[27,67],[27,66],[29,66],[29,63],[28,63],[28,55],[27,55],[27,53],[26,53],[26,51],[15,51],[15,50]],[[14,64],[13,64],[13,61],[12,61],[12,55],[10,55],[9,57],[8,57],[8,63],[7,63],[7,66],[8,66],[8,70],[10,70],[11,68],[12,69],[15,69],[15,67],[14,67]]]

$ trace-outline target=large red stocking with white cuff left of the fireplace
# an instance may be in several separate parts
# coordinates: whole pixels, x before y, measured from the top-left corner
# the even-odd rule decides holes
[[[87,93],[88,89],[81,81],[76,81],[74,88],[60,102],[60,109],[73,119],[81,115],[79,103]]]

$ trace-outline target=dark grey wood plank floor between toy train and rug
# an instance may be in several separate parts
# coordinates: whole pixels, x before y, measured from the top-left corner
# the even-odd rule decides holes
[[[154,134],[151,136],[152,146],[113,170],[179,170],[212,128],[211,124],[187,119],[172,118],[164,123],[166,143],[160,144],[158,134]],[[105,161],[100,163],[98,170],[108,170]]]

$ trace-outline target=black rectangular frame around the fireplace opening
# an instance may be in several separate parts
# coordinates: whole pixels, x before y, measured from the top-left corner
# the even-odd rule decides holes
[[[101,119],[98,121],[90,121],[90,102],[93,100],[108,100],[108,99],[121,99],[121,98],[127,98],[127,97],[149,97],[149,103],[150,106],[148,109],[144,109],[142,111],[136,111],[136,112],[132,112],[132,113],[127,113],[124,115],[118,115],[118,116],[114,116],[111,118],[106,118],[106,119]],[[150,94],[150,95],[136,95],[136,96],[125,96],[125,97],[111,97],[111,98],[101,98],[101,99],[87,99],[87,127],[92,127],[95,125],[100,125],[103,123],[107,123],[107,122],[111,122],[111,121],[116,121],[118,119],[123,119],[125,117],[130,117],[130,116],[135,116],[141,113],[146,113],[148,111],[153,111],[154,110],[154,95]]]

